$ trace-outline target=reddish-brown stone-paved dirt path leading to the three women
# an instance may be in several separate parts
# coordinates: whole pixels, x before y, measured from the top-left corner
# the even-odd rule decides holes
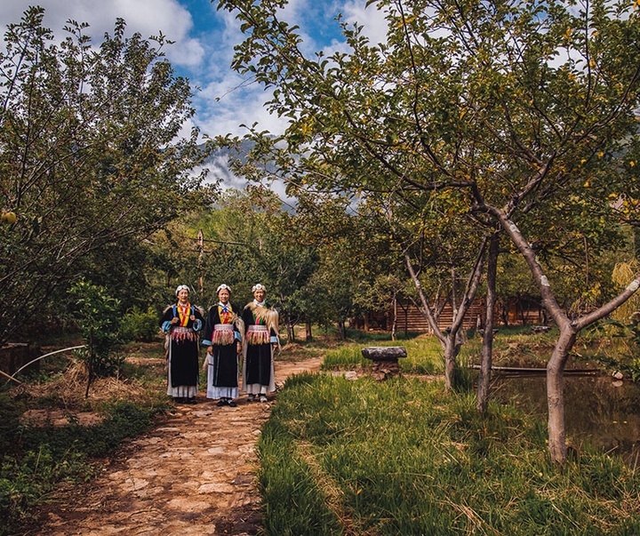
[[[314,371],[321,358],[277,362],[276,383]],[[46,536],[255,534],[260,497],[255,444],[274,404],[180,404],[159,426],[124,446],[91,483],[62,493],[45,514]]]

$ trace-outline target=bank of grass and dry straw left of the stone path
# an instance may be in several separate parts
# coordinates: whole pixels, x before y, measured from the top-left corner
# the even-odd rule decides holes
[[[47,362],[36,378],[0,392],[0,535],[25,533],[62,482],[94,476],[95,460],[153,425],[168,406],[159,345],[128,348],[119,379],[95,380],[72,359]],[[154,359],[156,358],[156,359]],[[60,423],[63,424],[60,424]]]

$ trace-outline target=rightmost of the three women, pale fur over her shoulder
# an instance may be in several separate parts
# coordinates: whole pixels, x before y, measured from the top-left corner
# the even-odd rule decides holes
[[[276,310],[265,302],[267,289],[262,284],[252,288],[253,301],[243,311],[244,333],[243,387],[249,402],[267,402],[267,393],[276,390],[274,350],[279,345]]]

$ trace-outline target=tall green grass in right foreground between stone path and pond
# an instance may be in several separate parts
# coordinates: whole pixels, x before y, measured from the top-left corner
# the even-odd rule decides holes
[[[266,533],[640,531],[640,478],[620,460],[587,450],[560,470],[543,423],[475,404],[438,381],[288,380],[259,444]]]

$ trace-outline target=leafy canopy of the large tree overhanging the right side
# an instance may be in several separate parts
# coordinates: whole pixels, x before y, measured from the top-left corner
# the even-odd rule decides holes
[[[347,52],[330,58],[305,54],[281,4],[220,2],[245,35],[232,67],[273,88],[270,109],[290,118],[281,137],[247,136],[250,179],[272,177],[256,165],[269,162],[292,195],[387,206],[425,258],[439,252],[429,242],[455,256],[473,232],[460,216],[487,225],[496,207],[559,271],[585,244],[592,254],[619,240],[611,200],[629,214],[637,189],[626,180],[637,175],[633,4],[369,2],[386,40],[340,20]]]

